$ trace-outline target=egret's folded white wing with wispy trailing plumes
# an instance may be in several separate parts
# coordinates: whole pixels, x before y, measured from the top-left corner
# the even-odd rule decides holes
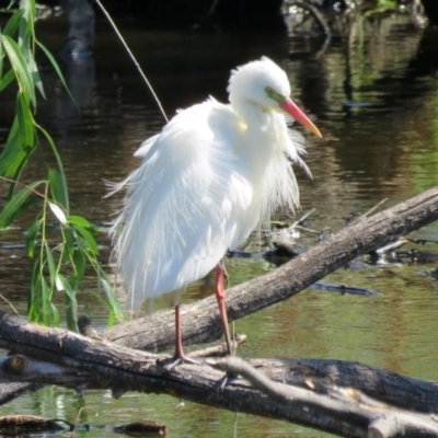
[[[233,242],[234,206],[244,209],[252,197],[234,172],[235,123],[228,106],[208,101],[178,113],[137,152],[143,162],[124,182],[113,227],[132,308],[204,277]]]

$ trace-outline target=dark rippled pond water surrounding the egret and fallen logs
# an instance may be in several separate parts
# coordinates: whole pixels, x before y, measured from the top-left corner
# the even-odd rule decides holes
[[[307,163],[313,180],[298,173],[302,210],[315,208],[307,220],[309,228],[335,232],[384,198],[389,207],[438,182],[438,32],[416,30],[410,15],[351,19],[344,34],[327,46],[323,41],[286,35],[160,33],[136,22],[120,26],[169,115],[209,94],[224,101],[230,69],[247,60],[266,55],[285,68],[295,100],[324,136],[322,140],[308,136]],[[39,32],[49,48],[61,48],[59,22],[41,23]],[[103,198],[103,180],[119,181],[138,165],[134,151],[161,129],[163,117],[106,24],[99,23],[96,34],[93,58],[65,66],[81,113],[46,67],[49,100],[42,103],[38,120],[54,134],[62,152],[73,211],[104,223],[120,198]],[[2,102],[5,110],[12,111],[13,105],[12,94]],[[37,174],[37,163],[33,172]],[[31,265],[22,250],[5,247],[22,235],[23,228],[0,234],[0,278],[1,293],[25,314]],[[427,227],[413,237],[438,241],[438,228]],[[315,242],[306,232],[297,238],[301,250]],[[103,240],[102,244],[105,257],[110,243]],[[438,245],[422,250],[437,252]],[[260,258],[231,258],[227,266],[232,284],[274,268]],[[237,331],[249,335],[240,355],[358,360],[436,380],[438,284],[428,274],[435,268],[434,262],[410,260],[338,270],[324,281],[380,295],[308,289],[238,321]],[[201,285],[184,300],[211,292]],[[91,314],[96,325],[104,324],[105,310],[96,302],[84,299],[81,311]],[[81,423],[110,426],[152,419],[166,424],[174,437],[322,436],[266,418],[182,405],[164,395],[128,394],[115,401],[110,393],[90,391],[81,400],[58,388],[2,406],[2,415],[8,414],[70,422],[79,415]],[[78,435],[112,436],[102,430]]]

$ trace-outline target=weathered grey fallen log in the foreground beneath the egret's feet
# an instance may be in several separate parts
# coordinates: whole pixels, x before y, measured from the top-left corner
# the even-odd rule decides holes
[[[438,387],[356,362],[254,359],[249,361],[249,368],[247,364],[231,358],[183,364],[169,370],[171,357],[42,327],[3,312],[0,312],[0,346],[32,357],[2,358],[0,381],[36,379],[38,383],[76,388],[80,393],[88,388],[106,388],[116,397],[127,391],[170,394],[346,437],[369,436],[371,426],[374,436],[396,436],[388,435],[379,423],[384,415],[393,418],[394,424],[400,422],[404,430],[416,430],[417,437],[433,436],[431,431],[438,435],[438,425],[434,423]],[[48,362],[50,372],[43,362]],[[211,365],[243,374],[252,384],[233,377],[222,388],[224,374]]]

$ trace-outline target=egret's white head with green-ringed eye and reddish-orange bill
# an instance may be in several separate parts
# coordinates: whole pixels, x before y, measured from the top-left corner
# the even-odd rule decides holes
[[[233,70],[228,92],[231,105],[238,112],[247,103],[263,111],[285,112],[321,137],[319,129],[290,100],[290,83],[286,72],[265,56]]]

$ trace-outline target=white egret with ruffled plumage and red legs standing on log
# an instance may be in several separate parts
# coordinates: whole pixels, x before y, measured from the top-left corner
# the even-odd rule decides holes
[[[266,57],[233,70],[228,91],[228,105],[210,97],[177,112],[136,152],[141,165],[115,186],[127,188],[112,234],[128,306],[137,309],[169,293],[175,357],[184,360],[182,291],[216,266],[216,297],[232,354],[222,257],[278,207],[298,206],[290,161],[306,168],[304,149],[302,138],[288,130],[287,114],[321,137],[290,100],[285,71]]]

